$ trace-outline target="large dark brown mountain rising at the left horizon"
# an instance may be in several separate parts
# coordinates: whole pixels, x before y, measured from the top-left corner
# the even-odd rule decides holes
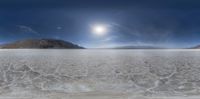
[[[57,39],[26,39],[0,45],[2,49],[83,49],[71,42]]]

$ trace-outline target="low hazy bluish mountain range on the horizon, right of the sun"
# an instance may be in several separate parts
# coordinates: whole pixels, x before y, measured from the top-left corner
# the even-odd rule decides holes
[[[113,49],[165,49],[165,48],[156,46],[119,46],[119,47],[114,47]]]

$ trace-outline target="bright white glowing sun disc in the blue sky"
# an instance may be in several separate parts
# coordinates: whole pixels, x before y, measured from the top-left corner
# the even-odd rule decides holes
[[[107,33],[107,27],[105,25],[94,25],[92,26],[92,33],[102,36]]]

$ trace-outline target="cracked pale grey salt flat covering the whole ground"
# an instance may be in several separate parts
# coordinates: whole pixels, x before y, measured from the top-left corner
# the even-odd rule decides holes
[[[0,50],[0,99],[199,99],[200,50]]]

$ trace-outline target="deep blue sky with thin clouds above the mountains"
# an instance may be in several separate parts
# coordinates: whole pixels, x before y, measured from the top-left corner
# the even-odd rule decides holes
[[[200,44],[199,0],[1,0],[0,44],[53,38],[86,48]],[[97,26],[105,31],[98,35]]]

